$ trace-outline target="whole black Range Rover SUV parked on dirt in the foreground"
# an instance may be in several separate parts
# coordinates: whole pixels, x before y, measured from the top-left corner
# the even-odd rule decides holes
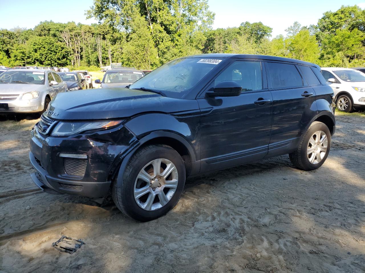
[[[260,55],[172,60],[127,88],[60,93],[31,131],[33,181],[102,198],[148,221],[171,210],[188,176],[289,154],[326,160],[333,91],[319,66]]]

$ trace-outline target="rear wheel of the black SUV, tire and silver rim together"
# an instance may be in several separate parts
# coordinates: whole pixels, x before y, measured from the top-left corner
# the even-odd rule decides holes
[[[330,130],[326,124],[315,121],[308,128],[298,148],[289,154],[289,158],[301,170],[315,170],[326,161],[330,147]]]

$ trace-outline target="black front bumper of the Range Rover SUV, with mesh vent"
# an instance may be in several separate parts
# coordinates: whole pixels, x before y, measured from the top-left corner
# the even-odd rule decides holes
[[[35,169],[31,178],[45,191],[105,197],[133,139],[123,126],[73,137],[42,135],[35,126],[30,139],[29,159]],[[87,155],[87,159],[64,158],[62,154]]]

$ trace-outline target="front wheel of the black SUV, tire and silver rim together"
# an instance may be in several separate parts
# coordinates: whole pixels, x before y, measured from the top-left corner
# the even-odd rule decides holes
[[[112,198],[124,214],[138,221],[165,215],[179,201],[185,185],[185,165],[180,154],[167,145],[139,149],[128,162]]]

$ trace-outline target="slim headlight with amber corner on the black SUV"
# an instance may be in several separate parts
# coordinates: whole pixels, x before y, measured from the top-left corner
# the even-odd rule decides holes
[[[90,130],[107,129],[115,127],[122,122],[123,120],[106,120],[106,121],[95,121],[95,122],[59,122],[54,127],[51,135],[54,137],[62,137]]]

